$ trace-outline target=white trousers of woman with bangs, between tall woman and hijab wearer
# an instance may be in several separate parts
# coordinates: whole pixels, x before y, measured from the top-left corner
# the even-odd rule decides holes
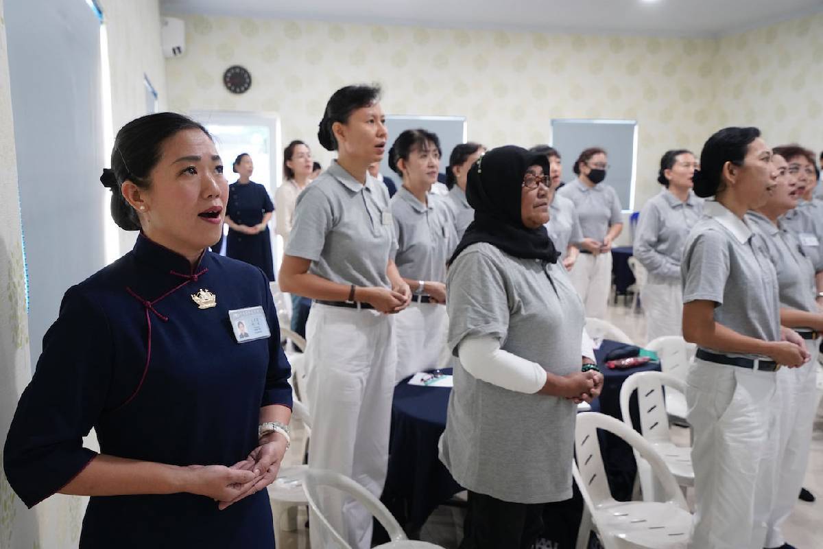
[[[396,316],[398,372],[394,383],[417,372],[443,366],[439,360],[449,335],[449,315],[445,305],[412,301]]]

